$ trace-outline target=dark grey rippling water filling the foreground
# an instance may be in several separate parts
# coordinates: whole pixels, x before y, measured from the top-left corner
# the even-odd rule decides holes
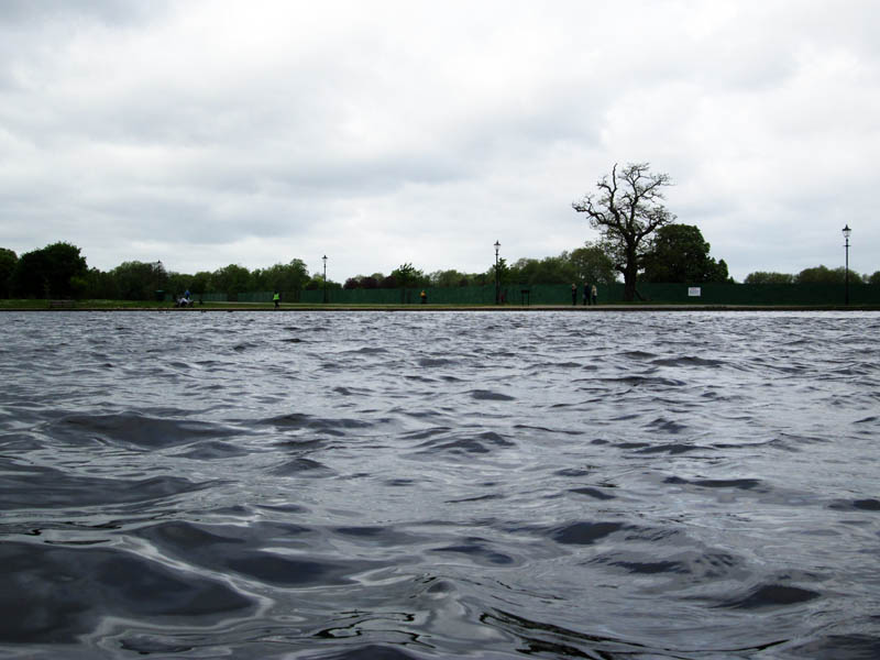
[[[0,658],[880,657],[880,315],[0,332]]]

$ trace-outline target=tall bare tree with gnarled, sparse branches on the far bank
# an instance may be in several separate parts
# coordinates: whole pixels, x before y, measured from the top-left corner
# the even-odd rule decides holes
[[[601,244],[624,275],[624,299],[636,295],[636,279],[645,255],[651,248],[651,234],[675,220],[662,201],[668,174],[650,172],[649,163],[628,163],[619,173],[617,164],[610,177],[596,183],[597,193],[584,195],[571,206],[586,213],[590,227],[602,232]]]

